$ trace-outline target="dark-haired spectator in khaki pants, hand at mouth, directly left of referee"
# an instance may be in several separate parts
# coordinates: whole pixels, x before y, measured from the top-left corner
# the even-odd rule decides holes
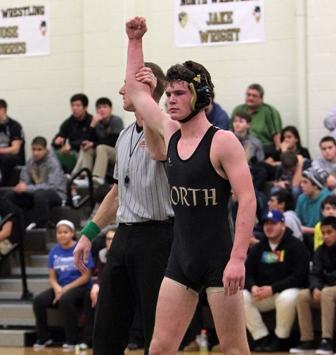
[[[103,185],[108,165],[115,165],[115,143],[124,123],[119,116],[112,114],[112,102],[108,98],[96,101],[96,114],[81,145],[82,168],[92,172],[93,185]],[[75,185],[88,186],[86,179],[74,180]]]

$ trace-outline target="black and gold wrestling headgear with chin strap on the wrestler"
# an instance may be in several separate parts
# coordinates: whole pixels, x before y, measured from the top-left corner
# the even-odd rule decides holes
[[[188,81],[191,91],[190,109],[193,111],[185,119],[179,120],[181,123],[186,123],[196,116],[201,109],[205,109],[210,105],[211,88],[204,75],[198,74],[192,80],[180,78],[183,81]]]

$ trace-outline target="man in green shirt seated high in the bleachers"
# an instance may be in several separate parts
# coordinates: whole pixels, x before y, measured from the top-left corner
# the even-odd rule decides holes
[[[273,106],[264,103],[264,88],[261,85],[253,83],[247,88],[245,104],[233,109],[232,119],[238,111],[252,116],[250,133],[261,141],[266,158],[280,149],[281,117]]]

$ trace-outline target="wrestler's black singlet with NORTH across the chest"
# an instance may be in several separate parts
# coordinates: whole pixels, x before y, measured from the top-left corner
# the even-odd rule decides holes
[[[214,170],[209,157],[218,129],[209,127],[186,160],[177,152],[179,130],[172,135],[167,152],[169,199],[175,223],[166,276],[198,292],[204,286],[223,286],[223,271],[233,246],[231,185]]]

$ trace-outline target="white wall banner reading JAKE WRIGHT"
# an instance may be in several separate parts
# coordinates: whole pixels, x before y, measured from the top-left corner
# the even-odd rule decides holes
[[[264,41],[264,0],[174,0],[175,44]]]

